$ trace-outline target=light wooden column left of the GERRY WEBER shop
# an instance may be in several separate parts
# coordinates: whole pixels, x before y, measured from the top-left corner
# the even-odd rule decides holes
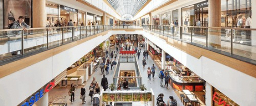
[[[33,27],[46,26],[46,0],[33,0]]]

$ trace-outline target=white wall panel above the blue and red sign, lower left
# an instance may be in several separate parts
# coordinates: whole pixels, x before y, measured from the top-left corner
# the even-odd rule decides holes
[[[53,79],[52,57],[0,78],[0,106],[17,106]]]

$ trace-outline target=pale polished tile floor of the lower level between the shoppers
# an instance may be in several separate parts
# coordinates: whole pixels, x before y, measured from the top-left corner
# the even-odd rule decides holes
[[[114,47],[111,48],[112,50],[114,50]],[[144,50],[142,50],[144,51]],[[174,98],[178,101],[178,106],[183,106],[182,105],[182,102],[179,100],[179,97],[175,94],[175,91],[173,90],[172,87],[168,87],[169,89],[166,89],[164,87],[160,87],[160,79],[158,78],[158,73],[160,72],[159,69],[156,67],[156,72],[155,72],[155,79],[154,81],[152,80],[152,76],[151,76],[151,83],[148,81],[148,75],[147,75],[147,70],[146,68],[147,67],[151,67],[152,64],[155,64],[154,61],[152,60],[152,58],[150,56],[148,56],[148,60],[147,60],[147,65],[145,67],[145,69],[143,69],[143,66],[142,66],[142,58],[143,56],[141,55],[140,56],[140,60],[138,61],[139,63],[139,68],[141,70],[141,76],[142,76],[142,84],[145,84],[146,87],[148,89],[152,88],[154,93],[155,93],[155,100],[157,98],[157,95],[160,94],[160,93],[163,93],[164,94],[164,101],[167,102],[167,100],[169,100],[169,96],[174,96]],[[109,70],[109,75],[106,75],[107,78],[108,78],[108,84],[112,83],[113,82],[113,74],[114,74],[114,70]],[[85,82],[85,88],[86,88],[86,104],[82,104],[82,101],[79,99],[80,98],[80,92],[81,92],[81,86],[78,86],[77,90],[75,91],[75,100],[73,104],[71,104],[71,101],[69,100],[70,99],[70,96],[68,96],[68,91],[69,91],[69,88],[70,86],[67,86],[67,88],[63,87],[63,88],[60,88],[60,87],[55,87],[54,89],[52,89],[50,92],[49,92],[49,99],[50,98],[54,98],[56,97],[56,95],[59,95],[59,96],[67,96],[67,105],[68,106],[90,106],[90,101],[91,101],[91,98],[90,96],[88,96],[89,94],[89,85],[90,85],[90,82],[92,81],[93,77],[96,78],[96,80],[101,83],[101,78],[102,78],[102,75],[101,75],[101,69],[97,69],[93,75],[91,77],[89,77],[88,81]],[[164,82],[163,82],[164,84]],[[108,91],[109,89],[107,89]]]

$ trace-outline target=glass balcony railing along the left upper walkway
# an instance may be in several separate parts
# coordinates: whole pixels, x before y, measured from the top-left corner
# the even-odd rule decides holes
[[[111,29],[94,25],[0,30],[0,65]]]

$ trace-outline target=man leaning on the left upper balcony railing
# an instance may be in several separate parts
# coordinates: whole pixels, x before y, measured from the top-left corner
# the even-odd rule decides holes
[[[29,25],[27,25],[24,22],[25,18],[23,16],[20,16],[19,19],[15,22],[13,22],[13,25],[11,29],[23,29],[23,31],[26,31],[27,29],[30,28]],[[20,34],[21,31],[12,31],[12,34],[18,35]]]

